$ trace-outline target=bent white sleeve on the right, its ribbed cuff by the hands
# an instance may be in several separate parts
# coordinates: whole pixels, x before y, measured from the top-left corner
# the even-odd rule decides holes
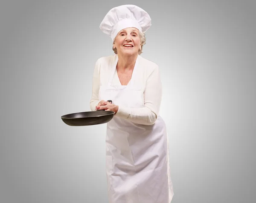
[[[124,118],[134,123],[151,125],[157,120],[162,100],[162,83],[159,67],[149,74],[144,91],[144,107],[130,108],[119,105],[115,116]]]

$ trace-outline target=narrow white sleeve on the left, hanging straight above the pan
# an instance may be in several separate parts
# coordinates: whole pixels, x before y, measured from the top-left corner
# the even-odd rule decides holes
[[[93,71],[93,85],[92,85],[92,97],[90,100],[90,109],[91,111],[96,111],[95,107],[99,103],[99,71],[100,71],[100,63],[99,59],[96,61],[94,71]]]

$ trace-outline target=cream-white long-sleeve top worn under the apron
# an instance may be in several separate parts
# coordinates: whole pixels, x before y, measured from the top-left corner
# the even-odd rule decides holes
[[[95,107],[99,103],[99,87],[108,85],[111,68],[116,61],[116,57],[117,54],[101,57],[96,61],[93,72],[92,97],[90,100],[90,109],[92,111],[96,111]],[[156,63],[138,55],[136,74],[134,85],[137,84],[143,88],[144,107],[130,108],[119,104],[119,109],[115,116],[127,119],[134,123],[151,125],[157,120],[162,100],[160,70]],[[111,85],[120,85],[116,71]]]

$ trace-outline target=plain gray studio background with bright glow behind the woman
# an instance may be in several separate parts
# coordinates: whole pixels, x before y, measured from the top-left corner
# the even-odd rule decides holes
[[[160,66],[172,203],[254,203],[256,1],[0,3],[0,203],[107,203],[106,125],[90,111],[96,60],[113,54],[99,24],[136,4],[152,18],[143,57]]]

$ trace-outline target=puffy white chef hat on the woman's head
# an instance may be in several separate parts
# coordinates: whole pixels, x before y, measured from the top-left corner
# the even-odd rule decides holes
[[[114,40],[122,29],[134,27],[145,32],[150,26],[151,18],[146,11],[138,6],[122,5],[108,11],[99,28]]]

